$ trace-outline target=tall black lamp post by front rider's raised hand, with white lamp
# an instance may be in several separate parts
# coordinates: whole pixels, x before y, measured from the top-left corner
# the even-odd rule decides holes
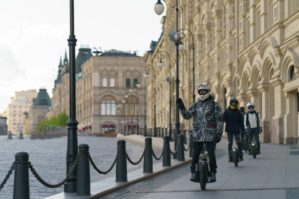
[[[178,32],[178,0],[175,0],[175,12],[176,12],[176,32]],[[163,9],[162,9],[163,7]],[[164,11],[164,5],[161,3],[160,0],[157,1],[155,4],[154,10],[156,14],[161,15]],[[162,11],[162,12],[161,12]],[[176,78],[175,78],[175,100],[178,100],[179,98],[179,65],[178,65],[178,52],[179,52],[179,44],[180,44],[180,39],[177,38],[178,40],[175,41],[175,46],[176,46]],[[175,148],[177,147],[177,135],[180,131],[180,122],[179,122],[179,108],[178,105],[176,104],[175,108]],[[174,159],[177,159],[177,154],[173,156]]]

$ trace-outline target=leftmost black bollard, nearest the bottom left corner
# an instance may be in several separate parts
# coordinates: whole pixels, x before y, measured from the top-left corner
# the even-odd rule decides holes
[[[16,155],[14,195],[13,199],[29,199],[29,172],[28,159],[26,152],[18,152]]]

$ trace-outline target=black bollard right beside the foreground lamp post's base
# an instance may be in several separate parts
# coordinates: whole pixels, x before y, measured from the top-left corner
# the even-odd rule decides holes
[[[89,170],[89,146],[80,144],[79,151],[82,151],[77,165],[76,193],[80,196],[90,196],[90,170]]]

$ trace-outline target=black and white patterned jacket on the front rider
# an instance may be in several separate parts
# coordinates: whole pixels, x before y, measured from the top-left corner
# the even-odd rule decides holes
[[[213,108],[214,103],[214,108]],[[194,102],[190,109],[180,110],[184,119],[193,121],[193,141],[214,142],[218,134],[223,133],[222,111],[212,96],[206,100]]]

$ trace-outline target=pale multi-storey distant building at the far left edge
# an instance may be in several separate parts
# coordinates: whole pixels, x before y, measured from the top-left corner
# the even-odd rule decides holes
[[[29,111],[33,98],[37,94],[36,90],[15,91],[15,96],[11,97],[11,102],[3,112],[3,116],[7,118],[8,131],[11,131],[12,134],[21,131],[23,125],[22,114]]]

